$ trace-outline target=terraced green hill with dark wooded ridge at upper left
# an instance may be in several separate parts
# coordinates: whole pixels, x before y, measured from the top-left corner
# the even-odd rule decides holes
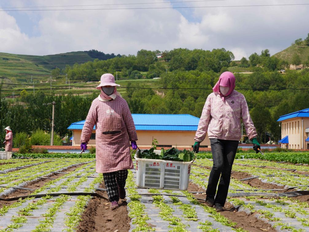
[[[88,52],[68,52],[46,56],[0,53],[0,77],[16,78],[18,82],[45,79],[55,67],[63,69],[66,65],[93,61]]]

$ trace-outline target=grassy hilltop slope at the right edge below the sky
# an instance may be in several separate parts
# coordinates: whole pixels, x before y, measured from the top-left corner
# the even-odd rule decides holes
[[[299,48],[296,45],[290,46],[283,51],[274,54],[273,56],[291,63],[294,54],[299,55],[302,63],[307,61],[309,56],[309,46]]]

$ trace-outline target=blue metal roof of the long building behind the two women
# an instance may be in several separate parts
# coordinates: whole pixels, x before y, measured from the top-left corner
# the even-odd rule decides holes
[[[190,114],[132,114],[138,131],[196,131],[199,118]],[[82,130],[84,121],[74,122],[69,130]],[[95,130],[95,127],[94,127]]]

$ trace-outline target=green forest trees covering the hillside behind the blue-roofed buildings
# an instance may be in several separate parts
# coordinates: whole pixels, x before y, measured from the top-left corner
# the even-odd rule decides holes
[[[84,64],[67,66],[61,72],[81,81],[98,80],[106,72],[116,74],[118,79],[160,77],[160,88],[148,84],[128,82],[123,97],[131,112],[140,114],[191,114],[201,116],[207,96],[217,82],[219,75],[231,67],[250,67],[250,74],[235,73],[236,90],[247,99],[252,120],[258,131],[259,140],[281,139],[281,128],[276,122],[279,116],[308,108],[309,69],[284,74],[277,70],[287,63],[272,57],[269,50],[252,54],[247,62],[234,60],[234,55],[225,49],[205,51],[201,49],[174,49],[163,52],[163,58],[155,58],[159,51],[140,50],[136,56],[117,56]],[[244,60],[244,59],[243,59]],[[1,91],[0,91],[1,94]],[[56,102],[55,133],[60,138],[71,135],[66,128],[72,123],[84,120],[91,102],[97,93],[90,96],[76,94],[35,94],[22,91],[17,101],[0,95],[0,128],[10,125],[14,133],[23,132],[31,136],[38,130],[49,132],[51,128],[51,105]],[[1,131],[1,137],[4,136]]]

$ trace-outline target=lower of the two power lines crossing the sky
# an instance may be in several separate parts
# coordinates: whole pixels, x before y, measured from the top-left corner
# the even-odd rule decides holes
[[[269,4],[269,5],[238,5],[238,6],[172,6],[172,7],[136,7],[136,8],[93,8],[93,9],[40,9],[40,10],[0,10],[0,11],[90,11],[90,10],[146,10],[146,9],[188,9],[188,8],[228,8],[228,7],[256,7],[256,6],[304,6],[299,4]]]

